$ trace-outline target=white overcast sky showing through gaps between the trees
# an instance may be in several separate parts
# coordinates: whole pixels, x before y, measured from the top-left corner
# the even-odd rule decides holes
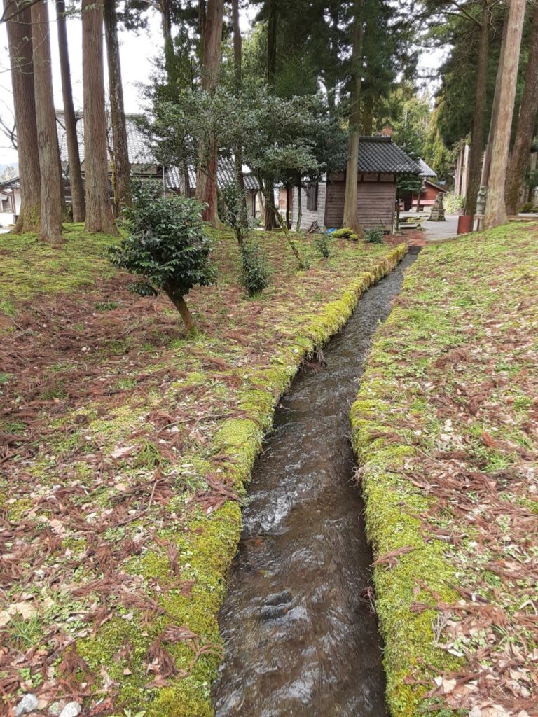
[[[62,84],[60,80],[60,60],[58,57],[58,40],[56,32],[55,4],[49,3],[51,47],[52,47],[52,82],[54,85],[55,105],[61,108]],[[252,11],[242,12],[241,29],[247,32],[250,27]],[[123,77],[123,92],[125,108],[128,113],[141,110],[140,82],[146,82],[151,75],[154,59],[159,54],[162,45],[162,35],[159,16],[152,13],[150,16],[149,31],[136,35],[133,32],[121,32],[121,73]],[[82,108],[82,23],[78,18],[67,19],[67,36],[71,63],[71,79],[75,109]],[[439,64],[438,54],[425,55],[421,66],[435,67]],[[106,76],[106,72],[105,72]],[[4,121],[13,120],[13,101],[11,95],[11,77],[9,75],[9,57],[7,53],[7,37],[5,24],[0,25],[0,116]],[[17,161],[16,151],[9,146],[9,140],[0,135],[0,164]]]

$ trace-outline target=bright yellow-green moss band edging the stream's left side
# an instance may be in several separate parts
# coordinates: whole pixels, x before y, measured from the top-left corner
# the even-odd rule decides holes
[[[233,477],[240,493],[245,491],[255,459],[261,450],[263,435],[272,423],[276,398],[288,387],[303,356],[328,341],[343,326],[360,293],[379,275],[391,270],[404,253],[405,247],[398,247],[391,252],[390,260],[384,262],[382,272],[375,269],[352,282],[341,300],[328,305],[317,317],[311,318],[303,337],[295,346],[288,346],[280,354],[277,366],[255,371],[249,377],[250,384],[255,387],[241,392],[240,407],[250,418],[225,420],[213,439],[215,450],[229,459],[225,472]],[[187,380],[195,384],[203,379],[203,374],[198,375],[194,371],[187,376]],[[93,424],[90,427],[95,430]],[[103,426],[100,427],[99,432],[102,433],[103,429]],[[192,457],[189,457],[189,465],[197,470]],[[207,465],[202,461],[198,466],[198,469],[202,469],[201,475],[205,467]],[[161,534],[161,540],[171,541],[179,551],[181,579],[193,580],[194,587],[188,596],[173,589],[161,595],[159,603],[167,617],[154,621],[151,635],[157,631],[157,626],[162,630],[170,619],[172,624],[186,625],[204,640],[220,644],[217,612],[225,594],[225,575],[237,549],[240,532],[240,506],[228,501],[211,516],[194,518],[186,530]],[[143,577],[146,583],[155,580],[166,582],[172,577],[166,551],[159,547],[146,551],[141,558],[132,561],[130,571]],[[111,661],[115,660],[122,645],[132,641],[132,627],[132,623],[115,620],[106,630],[100,630],[97,636],[80,641],[80,651],[92,661],[94,669],[99,667],[109,670]],[[143,705],[148,709],[148,717],[209,717],[212,714],[209,685],[216,674],[217,657],[209,655],[199,660],[189,678],[177,680],[169,688],[161,688],[149,698],[148,690],[143,688],[142,677],[149,635],[143,640],[138,635],[138,640],[140,647],[138,651],[133,650],[131,655],[138,655],[139,660],[136,664],[135,660],[131,660],[128,665],[133,674],[123,678],[119,703],[133,708]],[[176,646],[172,652],[178,667],[187,668],[192,660],[192,651],[185,646]],[[98,660],[97,664],[95,660]],[[118,672],[118,663],[114,665],[113,669]],[[124,665],[120,666],[123,670]]]

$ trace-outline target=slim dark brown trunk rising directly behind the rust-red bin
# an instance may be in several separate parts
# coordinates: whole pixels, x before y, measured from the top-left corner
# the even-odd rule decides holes
[[[480,189],[482,168],[482,147],[484,113],[486,111],[486,88],[488,82],[489,24],[491,22],[491,0],[482,2],[482,21],[480,42],[478,44],[478,64],[476,66],[476,92],[471,132],[471,150],[469,152],[468,185],[463,214],[476,214],[476,197]]]

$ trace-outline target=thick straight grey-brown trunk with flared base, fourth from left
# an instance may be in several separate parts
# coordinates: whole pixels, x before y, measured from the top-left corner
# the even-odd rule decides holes
[[[103,71],[103,4],[82,0],[82,84],[86,171],[86,231],[117,234],[108,195]]]

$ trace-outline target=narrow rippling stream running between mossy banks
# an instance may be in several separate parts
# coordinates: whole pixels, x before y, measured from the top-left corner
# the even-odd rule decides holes
[[[416,251],[416,250],[415,250]],[[382,640],[365,589],[372,552],[354,487],[349,407],[408,254],[372,287],[282,399],[255,465],[220,614],[217,717],[385,717]]]

